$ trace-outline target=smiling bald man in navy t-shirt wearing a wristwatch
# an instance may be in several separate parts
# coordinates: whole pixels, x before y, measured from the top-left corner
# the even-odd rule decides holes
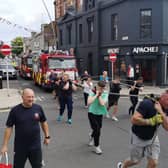
[[[47,119],[42,107],[34,103],[32,89],[23,90],[22,100],[23,102],[13,107],[8,115],[1,154],[4,155],[8,151],[8,142],[15,126],[14,168],[24,168],[27,159],[32,168],[41,168],[40,125],[44,133],[44,144],[48,145],[50,135]]]

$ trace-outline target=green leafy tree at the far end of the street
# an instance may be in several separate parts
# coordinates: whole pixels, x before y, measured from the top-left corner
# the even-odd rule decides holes
[[[12,46],[12,54],[19,55],[23,52],[23,38],[22,37],[16,37],[11,42]]]

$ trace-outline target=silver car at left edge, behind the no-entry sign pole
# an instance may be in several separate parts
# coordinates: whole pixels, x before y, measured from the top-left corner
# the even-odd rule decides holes
[[[6,79],[7,77],[7,65],[6,64],[0,64],[0,71],[3,79]],[[17,79],[17,70],[11,65],[8,65],[8,75],[9,79]]]

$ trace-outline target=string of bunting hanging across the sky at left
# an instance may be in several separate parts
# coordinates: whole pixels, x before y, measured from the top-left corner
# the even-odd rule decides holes
[[[34,30],[32,30],[32,29],[29,29],[29,28],[27,28],[27,27],[23,27],[23,26],[21,26],[21,25],[18,25],[18,24],[16,24],[16,23],[13,23],[13,22],[11,22],[11,21],[9,21],[9,20],[7,20],[7,19],[5,19],[5,18],[2,18],[2,17],[0,17],[0,23],[4,23],[4,24],[7,24],[7,25],[10,25],[10,26],[12,26],[13,28],[23,29],[24,31],[27,31],[27,32],[29,32],[29,33],[31,33],[31,32],[36,32],[36,31],[34,31]]]

